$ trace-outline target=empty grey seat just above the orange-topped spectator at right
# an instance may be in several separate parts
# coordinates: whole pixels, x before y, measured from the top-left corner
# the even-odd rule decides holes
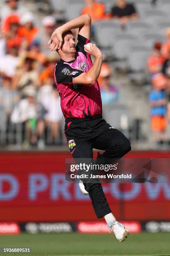
[[[146,46],[153,47],[155,41],[165,41],[165,36],[159,33],[145,33],[143,34],[143,41]]]

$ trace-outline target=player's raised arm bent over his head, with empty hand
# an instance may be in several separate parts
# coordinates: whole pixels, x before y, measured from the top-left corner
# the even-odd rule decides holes
[[[64,25],[56,28],[55,31],[52,33],[52,36],[48,42],[50,45],[50,51],[56,51],[61,48],[62,45],[62,34],[73,29],[79,28],[79,34],[84,36],[87,39],[90,39],[91,34],[91,18],[90,15],[84,14],[73,20],[68,21]]]

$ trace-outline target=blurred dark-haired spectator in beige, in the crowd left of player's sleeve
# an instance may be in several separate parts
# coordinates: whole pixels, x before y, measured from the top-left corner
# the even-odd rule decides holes
[[[29,53],[23,53],[20,56],[18,70],[13,77],[12,85],[14,89],[20,90],[21,97],[27,96],[28,87],[36,90],[40,86],[37,60]]]

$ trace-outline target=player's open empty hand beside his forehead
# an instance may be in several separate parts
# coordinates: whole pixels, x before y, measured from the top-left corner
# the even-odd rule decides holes
[[[62,45],[62,32],[59,28],[55,29],[52,33],[50,40],[48,41],[48,45],[50,45],[50,51],[56,51],[61,48]]]

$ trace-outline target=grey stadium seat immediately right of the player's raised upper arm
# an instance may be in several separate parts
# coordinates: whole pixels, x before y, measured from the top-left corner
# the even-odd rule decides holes
[[[103,20],[95,23],[95,40],[97,46],[109,48],[112,46],[112,36],[120,33],[121,26],[116,20]]]

